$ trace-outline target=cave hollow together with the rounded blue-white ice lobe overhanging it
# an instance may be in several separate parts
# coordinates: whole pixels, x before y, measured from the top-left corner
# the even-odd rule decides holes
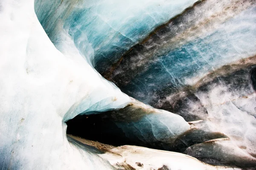
[[[190,134],[190,125],[181,116],[135,99],[125,108],[90,112],[66,123],[68,134],[115,146],[130,144],[169,150],[180,136]]]

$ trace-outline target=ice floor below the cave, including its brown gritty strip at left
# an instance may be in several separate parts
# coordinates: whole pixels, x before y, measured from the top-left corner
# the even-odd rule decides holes
[[[154,150],[145,147],[125,145],[113,147],[99,142],[88,141],[68,135],[68,140],[76,146],[94,146],[97,154],[107,159],[113,167],[125,170],[241,170],[240,168],[211,166],[182,153]],[[104,150],[104,154],[102,154]],[[186,162],[186,163],[184,163]]]

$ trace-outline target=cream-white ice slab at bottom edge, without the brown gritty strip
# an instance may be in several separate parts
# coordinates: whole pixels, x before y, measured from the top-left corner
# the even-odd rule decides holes
[[[239,168],[210,166],[181,153],[153,150],[145,147],[122,146],[113,148],[111,151],[122,157],[116,156],[116,158],[113,158],[108,153],[101,155],[101,157],[107,158],[117,168],[118,164],[124,162],[132,167],[144,170],[151,168],[162,168],[163,170],[239,170]],[[143,167],[138,166],[140,165],[138,163],[143,164]]]

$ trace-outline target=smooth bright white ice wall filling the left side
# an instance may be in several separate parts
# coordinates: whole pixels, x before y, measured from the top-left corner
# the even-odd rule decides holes
[[[81,56],[55,48],[33,0],[0,4],[0,169],[113,169],[70,145],[64,120],[92,106],[123,107],[130,98]]]

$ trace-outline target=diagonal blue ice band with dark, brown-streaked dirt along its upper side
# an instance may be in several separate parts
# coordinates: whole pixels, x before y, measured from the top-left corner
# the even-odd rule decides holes
[[[255,1],[206,0],[134,46],[103,75],[154,105],[223,65],[255,56],[255,26]]]

